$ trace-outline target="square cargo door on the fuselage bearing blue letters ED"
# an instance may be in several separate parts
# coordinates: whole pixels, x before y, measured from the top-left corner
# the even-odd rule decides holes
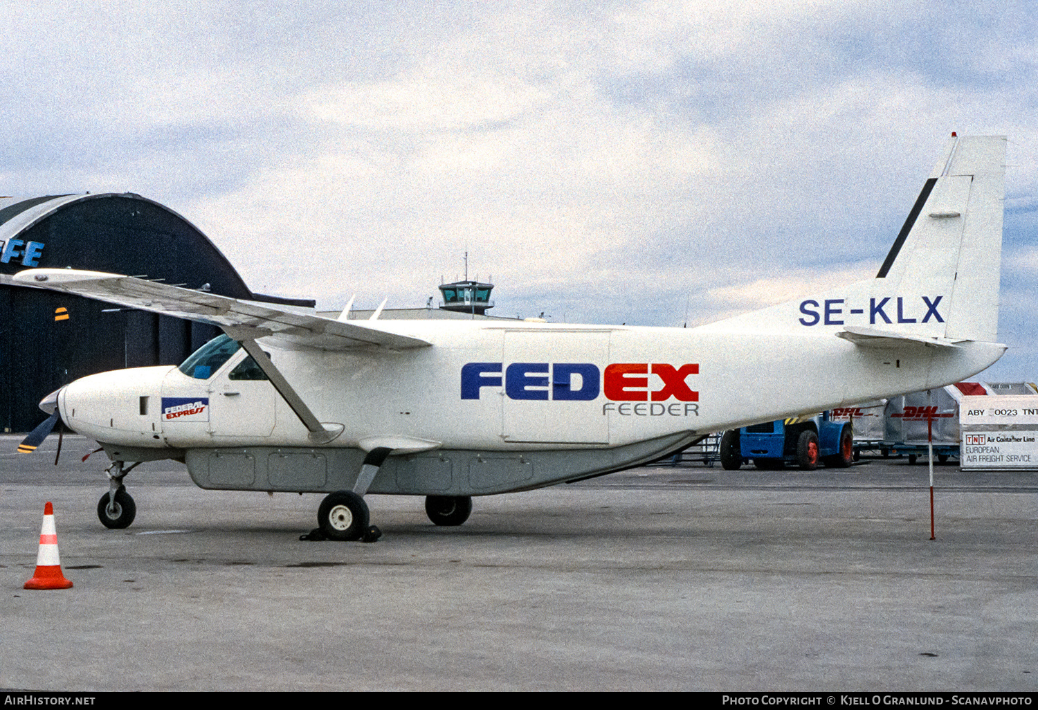
[[[609,414],[600,397],[608,357],[608,330],[507,331],[501,437],[609,443]]]

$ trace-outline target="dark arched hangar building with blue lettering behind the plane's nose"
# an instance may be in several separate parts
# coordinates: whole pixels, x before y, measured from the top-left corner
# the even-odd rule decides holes
[[[220,250],[172,210],[132,193],[0,197],[0,431],[27,432],[38,402],[107,370],[176,364],[219,331],[77,296],[16,286],[32,267],[163,279],[221,296],[308,305],[253,294]]]

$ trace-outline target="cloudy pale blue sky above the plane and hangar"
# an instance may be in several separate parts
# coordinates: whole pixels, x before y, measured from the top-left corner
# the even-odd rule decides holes
[[[948,135],[1009,137],[1038,379],[1038,9],[891,0],[4,1],[3,194],[130,191],[253,291],[696,325],[875,274]]]

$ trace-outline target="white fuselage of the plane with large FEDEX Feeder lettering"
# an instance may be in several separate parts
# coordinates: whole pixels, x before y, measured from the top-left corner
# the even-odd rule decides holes
[[[1004,350],[863,348],[830,332],[464,321],[391,328],[432,347],[367,354],[261,342],[318,418],[342,427],[323,445],[402,437],[470,450],[624,446],[941,386]],[[85,436],[134,447],[312,446],[270,382],[228,379],[245,357],[239,351],[209,379],[175,367],[83,378],[62,389],[61,416]]]

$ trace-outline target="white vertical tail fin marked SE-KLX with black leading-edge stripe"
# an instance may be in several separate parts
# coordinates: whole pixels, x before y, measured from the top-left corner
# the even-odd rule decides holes
[[[1003,136],[953,134],[875,278],[702,329],[993,343],[1005,155]]]

